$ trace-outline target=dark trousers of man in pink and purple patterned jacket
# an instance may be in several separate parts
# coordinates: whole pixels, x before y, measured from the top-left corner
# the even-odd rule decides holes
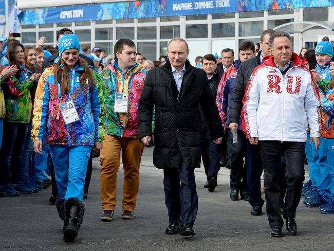
[[[228,130],[229,138],[233,137],[231,130]],[[247,169],[246,160],[246,136],[243,131],[238,130],[237,132],[237,143],[233,143],[230,140],[230,188],[231,190],[240,190],[240,194],[247,192]]]

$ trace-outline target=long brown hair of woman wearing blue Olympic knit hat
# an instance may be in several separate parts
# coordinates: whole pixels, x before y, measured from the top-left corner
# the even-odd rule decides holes
[[[90,91],[94,88],[95,86],[95,81],[93,78],[93,70],[90,69],[86,63],[85,60],[78,58],[78,61],[80,66],[84,68],[83,73],[80,76],[80,85],[82,89],[84,90],[85,93],[87,93],[87,83],[86,79],[88,79],[89,83],[89,89]],[[63,65],[63,69],[61,70],[60,65]],[[61,70],[61,73],[60,73]],[[58,74],[60,73],[61,80],[58,81]],[[60,82],[61,90],[63,94],[69,93],[69,78],[68,78],[68,66],[67,64],[63,61],[61,58],[57,64],[54,66],[53,70],[54,74],[54,83]]]

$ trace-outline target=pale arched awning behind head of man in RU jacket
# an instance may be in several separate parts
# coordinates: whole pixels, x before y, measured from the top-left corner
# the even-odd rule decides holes
[[[290,22],[286,24],[282,24],[274,28],[276,31],[285,31],[288,33],[303,33],[306,30],[312,29],[314,27],[321,27],[327,30],[334,30],[334,22]]]

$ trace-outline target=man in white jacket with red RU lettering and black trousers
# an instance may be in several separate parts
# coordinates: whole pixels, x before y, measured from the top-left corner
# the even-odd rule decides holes
[[[275,32],[269,39],[271,56],[256,67],[244,97],[243,128],[252,145],[259,145],[265,172],[265,196],[271,236],[282,237],[279,171],[286,162],[286,229],[296,235],[295,212],[305,180],[304,154],[307,125],[311,141],[321,136],[318,88],[305,61],[292,52],[292,39]]]

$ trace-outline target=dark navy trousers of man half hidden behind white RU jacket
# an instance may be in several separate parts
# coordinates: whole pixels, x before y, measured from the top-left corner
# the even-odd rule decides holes
[[[252,207],[263,206],[265,201],[261,194],[261,175],[262,175],[262,158],[258,146],[252,146],[247,140],[246,150],[247,166],[247,189],[249,203]]]

